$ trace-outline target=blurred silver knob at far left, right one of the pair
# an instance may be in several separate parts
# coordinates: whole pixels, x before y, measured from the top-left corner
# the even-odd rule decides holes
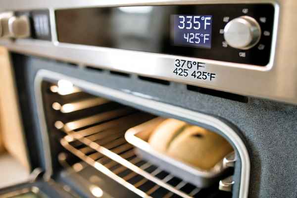
[[[8,20],[8,29],[14,38],[30,37],[30,21],[27,16],[12,16]]]

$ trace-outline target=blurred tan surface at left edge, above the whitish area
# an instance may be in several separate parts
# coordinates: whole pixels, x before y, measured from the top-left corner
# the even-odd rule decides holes
[[[29,170],[27,148],[13,80],[14,74],[9,53],[3,47],[0,47],[0,68],[0,134],[2,143],[5,149]]]

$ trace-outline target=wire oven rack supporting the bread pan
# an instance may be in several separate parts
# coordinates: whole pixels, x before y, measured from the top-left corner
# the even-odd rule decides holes
[[[139,114],[136,114],[136,117],[138,116]],[[126,117],[131,117],[131,115]],[[139,158],[135,154],[133,146],[127,143],[124,139],[125,131],[110,133],[111,131],[107,129],[107,133],[109,132],[108,135],[105,136],[103,135],[104,132],[100,131],[99,133],[90,135],[92,136],[91,139],[94,136],[99,137],[97,139],[93,138],[92,140],[88,137],[81,136],[81,134],[87,134],[86,132],[87,131],[83,131],[82,133],[82,131],[78,131],[70,133],[68,131],[68,135],[61,139],[60,143],[64,148],[78,156],[81,160],[95,167],[103,174],[122,184],[139,196],[150,197],[155,191],[162,188],[167,190],[167,193],[164,195],[166,198],[191,198],[201,190],[200,188],[193,186],[194,188],[191,192],[185,193],[182,191],[182,188],[185,187],[187,183],[181,180],[176,185],[171,186],[168,182],[173,179],[178,179]],[[102,145],[99,145],[96,142],[100,142]],[[79,143],[83,143],[83,145]],[[153,171],[147,172],[146,170]],[[129,174],[120,177],[119,175],[125,171],[129,171]],[[156,177],[158,174],[165,174],[166,176],[162,179],[158,179]],[[141,179],[136,183],[129,183],[129,181],[133,181],[137,177]],[[148,185],[148,183],[151,185],[151,188],[146,192],[139,189],[142,186]],[[190,184],[188,184],[188,186],[190,186]]]

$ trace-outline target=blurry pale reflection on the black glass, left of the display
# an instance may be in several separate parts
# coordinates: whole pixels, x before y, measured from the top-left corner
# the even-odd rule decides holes
[[[111,29],[116,30],[111,33],[114,45],[120,49],[127,46],[138,49],[145,43],[148,51],[161,48],[160,29],[166,27],[165,21],[161,20],[164,14],[153,6],[119,7],[113,10],[110,20]]]

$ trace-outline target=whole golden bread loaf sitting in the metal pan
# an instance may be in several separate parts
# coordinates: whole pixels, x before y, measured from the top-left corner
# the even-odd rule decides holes
[[[220,135],[176,119],[166,119],[152,132],[148,143],[177,160],[209,170],[233,148]]]

